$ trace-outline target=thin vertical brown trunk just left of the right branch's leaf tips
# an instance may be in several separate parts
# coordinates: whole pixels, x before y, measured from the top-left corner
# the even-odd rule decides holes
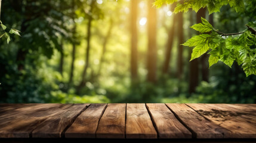
[[[177,77],[181,79],[183,76],[183,42],[184,42],[184,33],[183,33],[183,13],[178,13],[178,63],[177,63]]]

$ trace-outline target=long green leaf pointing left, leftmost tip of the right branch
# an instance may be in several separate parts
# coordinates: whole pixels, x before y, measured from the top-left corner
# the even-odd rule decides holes
[[[184,45],[184,46],[197,46],[201,43],[205,43],[210,38],[214,38],[214,36],[208,35],[208,34],[196,35],[196,36],[193,36],[192,38],[190,38],[189,40],[187,40],[182,45]]]

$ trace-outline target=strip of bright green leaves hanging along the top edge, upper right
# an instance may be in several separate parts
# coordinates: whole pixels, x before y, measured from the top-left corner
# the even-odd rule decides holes
[[[220,8],[227,4],[229,4],[230,7],[235,8],[236,12],[245,10],[243,0],[156,0],[153,5],[159,8],[163,4],[173,4],[174,2],[177,2],[177,7],[175,7],[174,13],[186,13],[189,11],[189,8],[192,8],[194,11],[198,12],[200,8],[207,7],[209,14],[211,14],[220,11]]]

